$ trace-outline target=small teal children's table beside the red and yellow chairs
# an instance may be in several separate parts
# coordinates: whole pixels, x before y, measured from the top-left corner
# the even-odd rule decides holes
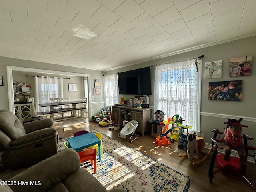
[[[99,160],[102,158],[101,140],[94,133],[87,133],[75,137],[68,138],[68,147],[73,148],[76,152],[84,150],[90,146],[98,144]]]

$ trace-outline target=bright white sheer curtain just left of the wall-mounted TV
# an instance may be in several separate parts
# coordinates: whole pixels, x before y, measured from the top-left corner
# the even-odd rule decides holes
[[[104,76],[104,97],[106,106],[119,103],[117,74],[110,74]]]

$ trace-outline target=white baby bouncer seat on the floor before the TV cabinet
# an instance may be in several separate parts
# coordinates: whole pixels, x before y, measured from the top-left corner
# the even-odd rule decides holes
[[[133,142],[136,138],[138,138],[138,135],[135,134],[134,132],[136,131],[136,128],[138,127],[138,122],[136,120],[132,120],[132,121],[123,121],[123,126],[124,128],[122,128],[122,130],[120,131],[120,133],[118,134],[118,137],[121,138],[126,138],[126,135],[130,135],[130,143]],[[132,136],[135,135],[136,138],[134,138],[132,140]]]

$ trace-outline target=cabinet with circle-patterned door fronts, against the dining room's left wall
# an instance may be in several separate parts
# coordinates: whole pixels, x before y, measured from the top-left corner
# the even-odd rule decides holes
[[[26,117],[31,117],[32,102],[17,102],[14,104],[15,115],[20,121],[23,121]]]

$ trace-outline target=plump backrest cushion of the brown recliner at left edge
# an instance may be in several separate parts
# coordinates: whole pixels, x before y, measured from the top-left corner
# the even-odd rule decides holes
[[[4,132],[11,140],[26,134],[20,120],[9,110],[0,110],[0,130]]]

